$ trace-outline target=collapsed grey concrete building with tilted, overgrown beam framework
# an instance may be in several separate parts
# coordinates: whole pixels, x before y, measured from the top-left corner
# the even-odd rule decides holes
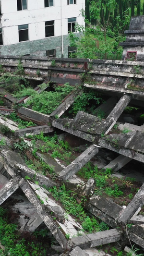
[[[143,126],[136,126],[125,122],[121,125],[125,127],[132,125],[134,131],[131,130],[127,134],[111,133],[108,135],[130,102],[134,106],[144,106],[143,62],[55,59],[55,66],[53,66],[50,59],[25,57],[21,61],[25,77],[29,79],[38,81],[48,80],[60,84],[68,81],[71,85],[83,83],[84,87],[101,91],[108,96],[108,100],[99,107],[105,111],[105,119],[100,119],[83,111],[78,111],[74,119],[61,118],[62,114],[74,102],[76,98],[75,92],[68,95],[50,115],[19,107],[17,109],[19,116],[25,120],[36,122],[36,127],[18,129],[14,122],[9,121],[7,118],[4,120],[0,118],[0,123],[15,131],[14,136],[16,138],[25,137],[27,134],[40,134],[41,131],[48,134],[55,129],[59,129],[90,143],[90,146],[73,160],[70,165],[65,168],[60,165],[57,166],[57,174],[60,181],[72,183],[74,186],[80,184],[84,187],[84,182],[75,174],[98,153],[100,148],[108,148],[112,152],[119,154],[119,157],[111,161],[105,168],[118,171],[132,159],[144,163]],[[0,63],[4,70],[9,72],[13,72],[16,69],[18,62],[19,58],[0,58]],[[136,67],[140,68],[140,73],[137,73]],[[41,75],[39,77],[36,75],[36,69],[40,70]],[[39,90],[40,93],[39,88],[36,87],[36,90]],[[82,91],[79,91],[79,94],[81,93]],[[26,98],[28,97],[17,100],[17,104],[23,102]],[[12,106],[16,99],[7,93],[5,102],[8,106]],[[11,108],[0,108],[0,112],[7,117],[12,111]],[[58,118],[55,118],[56,115]],[[0,137],[2,138],[4,135],[1,134]],[[56,185],[56,183],[27,168],[24,160],[9,147],[12,145],[11,139],[8,137],[5,137],[5,139],[7,146],[1,147],[0,151],[1,161],[3,161],[0,168],[0,205],[7,198],[14,195],[13,193],[17,189],[21,190],[24,205],[29,204],[29,208],[32,209],[28,213],[29,219],[24,221],[21,230],[32,232],[44,222],[61,248],[67,251],[61,255],[95,255],[97,252],[96,246],[113,242],[126,245],[128,237],[132,242],[144,248],[144,219],[139,215],[139,211],[144,205],[144,185],[142,185],[130,204],[125,208],[114,203],[109,198],[92,194],[87,200],[87,211],[103,220],[111,229],[85,234],[81,225],[72,219],[71,216],[65,217],[64,209],[56,201],[52,200],[48,191],[42,187],[44,184],[47,187],[51,187]],[[29,146],[31,145],[29,144]],[[26,175],[31,180],[25,180],[24,177]],[[38,184],[33,181],[34,176]],[[85,184],[84,193],[86,195],[89,195],[87,193],[92,190],[92,186],[93,180],[90,184]],[[23,207],[22,209],[20,205],[17,207],[21,212],[24,212]],[[55,221],[50,212],[53,212],[53,216],[56,218]],[[126,223],[133,224],[128,231]],[[119,229],[117,229],[118,226]],[[81,232],[81,236],[73,237],[78,232]],[[64,236],[67,233],[70,234],[69,241]]]

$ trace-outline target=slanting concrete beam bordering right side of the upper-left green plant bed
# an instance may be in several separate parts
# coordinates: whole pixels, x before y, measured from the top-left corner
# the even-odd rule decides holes
[[[50,114],[50,116],[51,117],[55,117],[55,116],[60,117],[66,110],[68,110],[68,108],[73,104],[75,98],[80,94],[82,94],[82,92],[80,92],[80,93],[77,92],[77,94],[70,93],[66,98],[64,98],[64,100],[59,105],[59,107]]]

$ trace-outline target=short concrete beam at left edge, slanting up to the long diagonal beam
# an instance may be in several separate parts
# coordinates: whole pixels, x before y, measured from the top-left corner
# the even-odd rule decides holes
[[[20,181],[20,177],[13,177],[10,182],[6,183],[5,186],[1,188],[0,205],[18,189]]]

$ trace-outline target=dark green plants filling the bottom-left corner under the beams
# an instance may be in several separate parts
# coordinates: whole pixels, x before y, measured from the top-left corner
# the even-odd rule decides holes
[[[33,235],[20,233],[18,226],[10,222],[12,214],[15,213],[10,214],[8,210],[0,207],[0,243],[5,248],[5,250],[0,249],[0,256],[46,256],[48,245],[41,242],[42,231],[36,236],[35,233]],[[17,216],[13,215],[13,219],[16,218]]]

